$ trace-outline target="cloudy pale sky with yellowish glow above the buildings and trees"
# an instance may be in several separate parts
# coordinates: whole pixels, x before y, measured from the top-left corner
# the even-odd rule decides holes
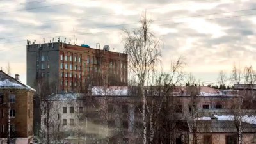
[[[184,71],[208,83],[233,65],[255,66],[256,1],[251,0],[116,0],[0,1],[0,67],[9,62],[12,76],[26,83],[26,41],[67,42],[123,52],[122,29],[140,26],[141,15],[161,40],[162,68],[185,58]],[[74,30],[73,30],[74,29]]]

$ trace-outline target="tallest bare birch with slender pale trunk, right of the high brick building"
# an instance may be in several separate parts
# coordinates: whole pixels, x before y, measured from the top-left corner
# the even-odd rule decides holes
[[[146,95],[145,84],[149,84],[150,77],[159,63],[161,51],[159,40],[150,31],[150,23],[147,15],[141,18],[141,27],[133,31],[124,30],[124,48],[128,54],[129,70],[134,74],[136,84],[140,86],[140,96],[143,99],[143,143],[147,143],[147,120],[146,120]]]

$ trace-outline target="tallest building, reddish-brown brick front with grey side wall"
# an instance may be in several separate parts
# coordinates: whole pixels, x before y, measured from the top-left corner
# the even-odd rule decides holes
[[[83,92],[88,86],[127,85],[127,54],[54,42],[27,45],[27,84],[45,92]]]

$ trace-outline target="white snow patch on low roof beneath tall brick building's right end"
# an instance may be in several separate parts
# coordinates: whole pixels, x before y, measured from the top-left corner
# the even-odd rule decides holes
[[[104,86],[93,86],[92,95],[127,96],[128,86],[109,86],[108,88],[104,88]]]

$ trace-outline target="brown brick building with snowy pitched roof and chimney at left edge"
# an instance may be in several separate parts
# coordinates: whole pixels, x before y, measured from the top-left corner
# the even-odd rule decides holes
[[[33,143],[35,90],[0,70],[0,143]]]

